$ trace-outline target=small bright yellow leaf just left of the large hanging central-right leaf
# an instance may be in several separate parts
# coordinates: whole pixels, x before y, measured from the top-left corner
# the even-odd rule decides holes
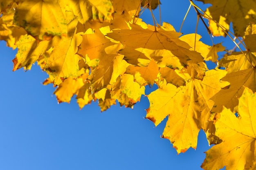
[[[125,93],[131,102],[140,101],[141,95],[145,95],[145,87],[140,87],[137,82],[134,82],[133,75],[124,74],[121,76],[121,92]]]

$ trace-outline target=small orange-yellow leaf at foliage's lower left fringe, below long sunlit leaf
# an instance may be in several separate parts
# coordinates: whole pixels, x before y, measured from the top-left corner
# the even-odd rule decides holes
[[[54,91],[54,94],[58,99],[58,103],[69,103],[71,97],[77,94],[79,88],[81,88],[83,85],[84,83],[82,78],[73,79],[71,77],[68,77],[67,79],[65,79],[64,82],[59,84],[58,88]]]

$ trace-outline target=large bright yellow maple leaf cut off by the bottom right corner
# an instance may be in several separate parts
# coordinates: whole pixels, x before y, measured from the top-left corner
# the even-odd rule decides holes
[[[225,107],[217,115],[215,134],[222,142],[206,152],[206,159],[201,166],[204,170],[216,170],[224,166],[226,170],[243,170],[254,165],[255,109],[256,93],[245,87],[239,99],[238,117]]]

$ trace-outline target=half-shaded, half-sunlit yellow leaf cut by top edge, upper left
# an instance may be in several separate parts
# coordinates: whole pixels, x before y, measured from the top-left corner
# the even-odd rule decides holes
[[[67,33],[67,21],[57,0],[20,1],[13,24],[25,28],[33,36],[44,40],[44,36]]]

